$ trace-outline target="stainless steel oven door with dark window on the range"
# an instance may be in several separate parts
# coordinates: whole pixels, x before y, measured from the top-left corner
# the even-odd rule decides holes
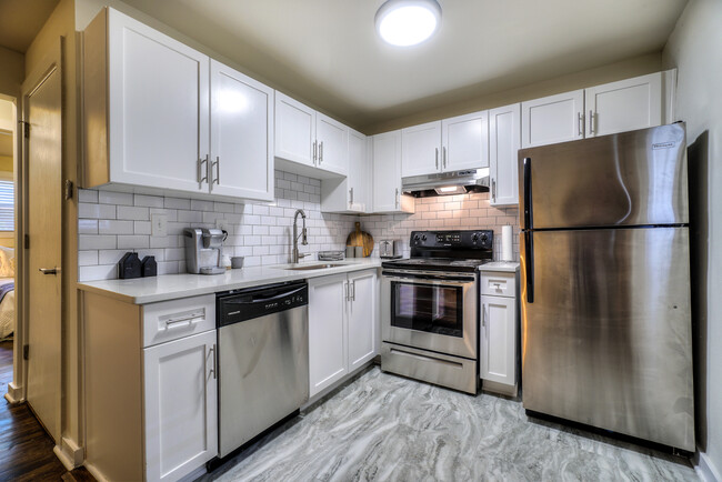
[[[477,360],[473,274],[383,271],[383,341]]]

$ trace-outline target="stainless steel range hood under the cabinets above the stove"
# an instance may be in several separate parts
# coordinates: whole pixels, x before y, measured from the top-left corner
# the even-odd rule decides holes
[[[402,178],[401,189],[415,198],[489,192],[489,168]]]

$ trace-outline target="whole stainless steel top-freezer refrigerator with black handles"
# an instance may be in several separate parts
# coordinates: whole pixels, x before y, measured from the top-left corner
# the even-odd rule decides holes
[[[523,405],[694,450],[684,124],[519,151]]]

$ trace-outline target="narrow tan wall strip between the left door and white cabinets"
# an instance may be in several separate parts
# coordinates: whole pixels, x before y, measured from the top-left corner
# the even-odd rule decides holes
[[[26,74],[44,69],[44,58],[58,49],[62,38],[63,79],[63,165],[62,178],[77,185],[78,181],[78,83],[76,69],[76,4],[73,0],[60,0],[43,28],[26,52]],[[78,317],[78,204],[77,197],[63,201],[62,208],[62,436],[82,446],[81,428],[81,376],[80,376],[80,334]],[[66,440],[63,440],[63,443]]]

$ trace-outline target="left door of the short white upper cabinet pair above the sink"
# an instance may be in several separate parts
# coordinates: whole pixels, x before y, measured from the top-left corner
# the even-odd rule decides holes
[[[275,157],[315,165],[315,111],[275,91]]]

